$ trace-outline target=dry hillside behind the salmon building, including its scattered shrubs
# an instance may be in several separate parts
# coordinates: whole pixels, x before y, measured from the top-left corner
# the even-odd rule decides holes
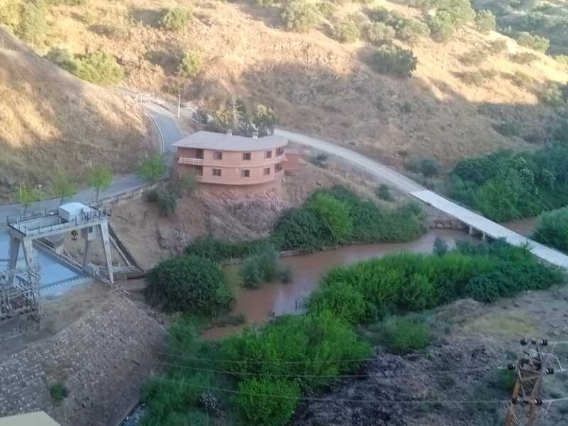
[[[67,68],[107,53],[124,84],[171,99],[268,105],[280,126],[395,166],[542,143],[557,124],[543,92],[566,82],[564,65],[474,23],[468,4],[444,9],[464,1],[50,1],[33,43],[67,50]],[[437,19],[410,6],[426,3]]]

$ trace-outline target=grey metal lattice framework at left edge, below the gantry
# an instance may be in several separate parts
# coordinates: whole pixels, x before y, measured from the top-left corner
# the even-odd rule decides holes
[[[0,274],[0,341],[43,327],[38,265]]]

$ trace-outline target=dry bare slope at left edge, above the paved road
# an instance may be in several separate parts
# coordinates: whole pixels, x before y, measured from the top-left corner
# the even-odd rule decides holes
[[[146,152],[143,111],[83,82],[0,29],[0,200],[15,185],[49,186],[60,171],[82,182],[90,166],[116,173]]]

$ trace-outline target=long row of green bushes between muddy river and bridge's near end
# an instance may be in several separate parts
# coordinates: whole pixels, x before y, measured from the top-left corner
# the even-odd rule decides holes
[[[334,268],[322,278],[308,307],[329,310],[351,323],[372,322],[460,297],[491,302],[560,282],[562,274],[527,249],[496,241],[479,248],[461,245],[442,256],[403,253]]]

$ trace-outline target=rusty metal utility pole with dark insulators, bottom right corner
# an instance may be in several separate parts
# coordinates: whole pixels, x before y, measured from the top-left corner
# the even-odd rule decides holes
[[[553,368],[546,368],[540,348],[547,346],[546,340],[521,339],[520,344],[527,346],[518,357],[517,365],[509,364],[510,371],[515,370],[517,380],[513,388],[513,398],[507,408],[504,426],[534,426],[537,407],[542,405],[540,393],[546,374],[554,374]]]

